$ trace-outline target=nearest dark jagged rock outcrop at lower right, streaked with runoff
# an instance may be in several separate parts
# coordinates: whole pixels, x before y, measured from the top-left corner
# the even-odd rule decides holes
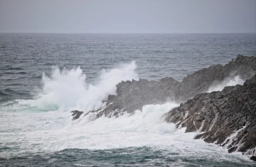
[[[167,122],[198,132],[195,139],[220,144],[228,151],[256,155],[256,74],[244,85],[201,93],[165,115]]]

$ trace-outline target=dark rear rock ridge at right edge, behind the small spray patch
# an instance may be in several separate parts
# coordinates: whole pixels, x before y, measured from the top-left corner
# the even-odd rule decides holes
[[[184,77],[175,91],[178,102],[184,102],[199,93],[205,92],[212,84],[221,83],[225,78],[238,76],[249,79],[256,71],[256,57],[244,57],[241,54],[226,65],[211,65]]]

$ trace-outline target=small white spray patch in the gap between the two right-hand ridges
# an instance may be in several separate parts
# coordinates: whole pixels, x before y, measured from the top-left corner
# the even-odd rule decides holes
[[[217,85],[211,85],[207,90],[207,93],[213,91],[222,91],[226,86],[235,86],[235,85],[244,85],[244,80],[240,79],[239,76],[234,77],[233,79],[225,79],[223,82]]]

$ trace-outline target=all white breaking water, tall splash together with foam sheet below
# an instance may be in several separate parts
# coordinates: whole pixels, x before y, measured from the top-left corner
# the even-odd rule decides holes
[[[72,121],[70,114],[63,112],[99,107],[108,94],[116,93],[118,82],[137,78],[135,69],[136,65],[132,62],[119,68],[102,70],[94,85],[86,82],[86,75],[80,67],[63,71],[56,67],[50,76],[43,74],[44,86],[35,99],[20,99],[0,105],[3,115],[1,139],[10,148],[19,145],[15,151],[0,150],[3,158],[73,148],[104,152],[146,147],[148,151],[166,153],[165,157],[237,161],[239,153],[228,154],[225,148],[194,140],[196,133],[184,133],[185,128],[176,129],[175,124],[165,122],[164,113],[178,106],[173,102],[144,105],[141,111],[125,113],[118,118],[102,116],[94,122],[88,121],[89,115],[80,121]],[[241,159],[244,160],[243,157]]]

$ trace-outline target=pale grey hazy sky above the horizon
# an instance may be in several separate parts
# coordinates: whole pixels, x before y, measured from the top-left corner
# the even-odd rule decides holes
[[[256,32],[256,0],[0,0],[0,32]]]

